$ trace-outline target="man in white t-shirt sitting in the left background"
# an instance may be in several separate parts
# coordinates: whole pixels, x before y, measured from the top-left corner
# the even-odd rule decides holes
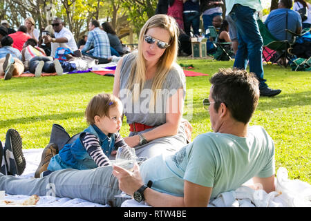
[[[55,31],[55,38],[50,37],[49,35],[44,36],[44,42],[52,42],[52,52],[51,56],[55,56],[55,50],[58,47],[69,48],[73,52],[78,50],[77,43],[73,37],[73,33],[70,32],[68,28],[63,26],[63,21],[60,18],[55,18],[52,21],[53,30]],[[57,44],[55,44],[57,43]]]

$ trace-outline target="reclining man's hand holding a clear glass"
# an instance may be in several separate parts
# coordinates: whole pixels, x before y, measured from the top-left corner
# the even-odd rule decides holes
[[[140,175],[140,167],[136,162],[133,167],[133,173],[114,165],[113,175],[119,180],[119,189],[132,196],[144,184]]]

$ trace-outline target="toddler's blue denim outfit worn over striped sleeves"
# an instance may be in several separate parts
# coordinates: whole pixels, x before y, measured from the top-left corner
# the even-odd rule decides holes
[[[113,151],[115,144],[114,134],[109,134],[108,136],[102,133],[99,128],[95,125],[90,125],[86,128],[80,135],[79,139],[75,140],[73,144],[66,144],[62,150],[59,151],[57,155],[51,158],[48,164],[49,171],[58,171],[60,169],[94,169],[97,167],[94,160],[86,148],[84,148],[81,142],[81,136],[83,133],[92,133],[100,140],[100,146],[102,146],[102,151],[109,157],[111,151]]]

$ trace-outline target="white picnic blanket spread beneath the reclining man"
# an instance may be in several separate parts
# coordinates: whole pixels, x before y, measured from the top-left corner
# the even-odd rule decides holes
[[[41,161],[41,153],[44,149],[23,150],[26,158],[26,169],[21,177],[33,177]],[[252,181],[245,184],[252,184]],[[22,187],[21,187],[22,188]],[[23,201],[28,199],[29,195],[8,195],[5,200]],[[109,205],[88,202],[82,199],[55,198],[52,196],[40,196],[37,206],[42,207],[109,207]],[[148,204],[138,203],[135,200],[126,200],[122,207],[142,207]],[[209,202],[210,207],[311,207],[311,185],[301,180],[288,180],[288,171],[281,167],[276,173],[276,191],[265,193],[263,190],[250,189],[247,186],[241,186],[236,191],[221,193],[214,200]]]

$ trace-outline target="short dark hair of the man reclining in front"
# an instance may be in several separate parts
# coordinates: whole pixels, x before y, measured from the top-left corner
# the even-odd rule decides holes
[[[247,124],[259,99],[256,76],[246,70],[220,68],[209,81],[212,84],[211,97],[215,101],[215,110],[218,111],[220,104],[224,103],[236,121]]]

